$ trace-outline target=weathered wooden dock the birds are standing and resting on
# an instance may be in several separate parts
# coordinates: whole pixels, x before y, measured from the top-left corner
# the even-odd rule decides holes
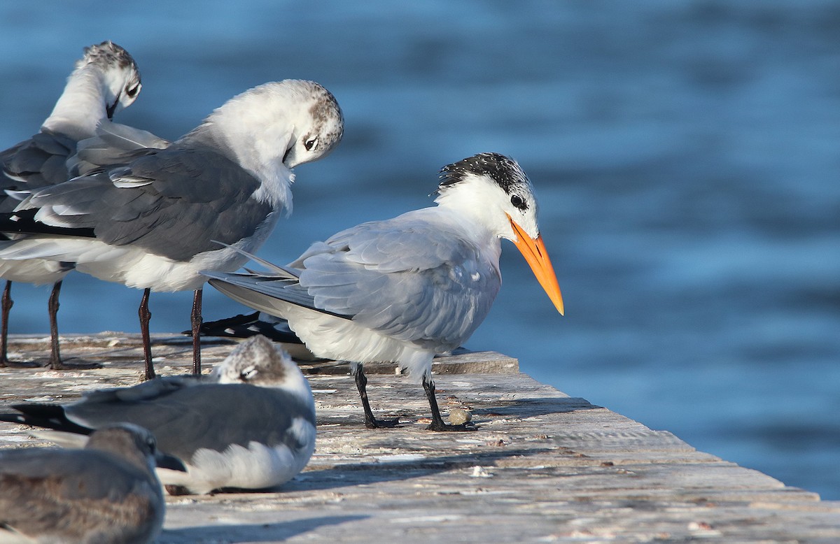
[[[208,341],[205,366],[231,345]],[[71,402],[142,374],[139,337],[66,337],[62,346],[66,358],[105,368],[0,369],[0,410]],[[45,361],[48,350],[46,338],[13,337],[10,356]],[[188,372],[191,355],[188,338],[155,337],[159,374]],[[368,430],[346,365],[302,368],[318,408],[307,469],[276,493],[168,497],[160,542],[840,542],[840,502],[540,384],[514,358],[436,359],[441,409],[470,410],[475,432],[426,431],[422,388],[392,365],[365,367],[368,391],[377,416],[403,424]],[[0,447],[42,443],[0,423]]]

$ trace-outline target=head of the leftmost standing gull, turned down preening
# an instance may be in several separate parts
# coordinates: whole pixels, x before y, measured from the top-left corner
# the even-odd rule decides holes
[[[101,74],[102,93],[108,118],[129,107],[140,93],[140,71],[137,63],[118,44],[104,41],[85,48],[85,55],[76,62],[76,70],[96,68]]]

